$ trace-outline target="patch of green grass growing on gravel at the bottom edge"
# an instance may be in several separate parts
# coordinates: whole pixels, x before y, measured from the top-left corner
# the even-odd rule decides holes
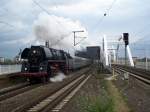
[[[113,100],[108,94],[79,99],[80,112],[114,112]]]

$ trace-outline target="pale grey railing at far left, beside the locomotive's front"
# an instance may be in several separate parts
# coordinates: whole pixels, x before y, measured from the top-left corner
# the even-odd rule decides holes
[[[21,65],[0,65],[0,75],[21,72]]]

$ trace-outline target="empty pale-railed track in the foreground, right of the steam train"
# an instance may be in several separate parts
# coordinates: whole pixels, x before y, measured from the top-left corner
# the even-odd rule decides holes
[[[28,109],[27,112],[58,112],[89,78],[90,75],[82,75],[62,89],[58,90],[56,93],[50,95],[40,103]]]

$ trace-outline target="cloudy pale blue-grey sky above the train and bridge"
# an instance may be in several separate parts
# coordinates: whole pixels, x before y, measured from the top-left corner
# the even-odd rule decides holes
[[[150,42],[149,11],[149,0],[0,0],[0,57],[55,36],[67,36],[71,45],[69,32],[80,29],[88,37],[85,45],[100,45],[103,34],[117,39],[129,32],[130,43],[143,46]]]

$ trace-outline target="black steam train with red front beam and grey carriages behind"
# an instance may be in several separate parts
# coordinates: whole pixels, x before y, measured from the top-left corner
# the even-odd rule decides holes
[[[47,82],[58,71],[67,74],[70,70],[89,65],[88,59],[72,58],[69,53],[63,50],[45,46],[25,48],[21,59],[23,59],[21,74],[30,82],[37,80]]]

